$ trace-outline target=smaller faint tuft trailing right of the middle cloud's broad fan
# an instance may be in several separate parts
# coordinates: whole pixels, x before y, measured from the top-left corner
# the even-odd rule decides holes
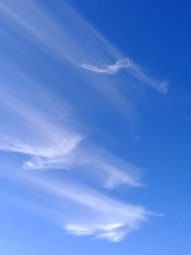
[[[89,169],[91,174],[100,176],[105,188],[112,189],[123,184],[130,187],[142,186],[141,169],[103,148],[89,144],[79,154],[79,164]]]

